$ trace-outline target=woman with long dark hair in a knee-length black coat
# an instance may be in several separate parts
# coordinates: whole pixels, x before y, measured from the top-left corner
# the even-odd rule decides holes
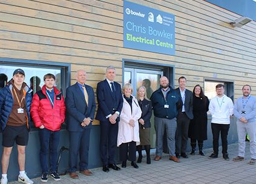
[[[191,140],[191,155],[196,150],[196,140],[198,142],[199,154],[204,156],[203,141],[207,140],[207,111],[209,106],[208,97],[203,94],[202,87],[197,84],[193,90],[193,115],[188,129],[188,137]]]

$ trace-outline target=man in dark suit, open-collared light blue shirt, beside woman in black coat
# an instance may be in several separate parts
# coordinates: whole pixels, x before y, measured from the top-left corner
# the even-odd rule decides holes
[[[187,79],[184,76],[179,78],[179,87],[176,88],[180,99],[182,100],[181,108],[179,108],[176,129],[176,157],[188,158],[186,154],[188,141],[188,127],[190,120],[193,119],[193,94],[185,88]]]

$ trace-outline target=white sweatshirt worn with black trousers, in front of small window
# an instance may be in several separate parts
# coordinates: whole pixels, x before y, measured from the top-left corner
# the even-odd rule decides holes
[[[211,123],[230,124],[230,116],[233,114],[234,104],[225,94],[222,97],[213,97],[210,101],[209,112]]]

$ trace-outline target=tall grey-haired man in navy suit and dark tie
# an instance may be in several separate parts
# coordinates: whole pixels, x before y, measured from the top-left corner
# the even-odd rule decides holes
[[[109,168],[120,170],[115,164],[119,115],[123,108],[121,85],[114,82],[115,67],[106,69],[106,79],[97,85],[98,112],[96,119],[100,121],[100,151],[103,171]]]

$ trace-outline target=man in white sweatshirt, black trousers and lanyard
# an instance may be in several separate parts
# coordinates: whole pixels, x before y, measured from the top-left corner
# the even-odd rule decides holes
[[[228,158],[228,129],[230,116],[233,114],[232,100],[224,94],[223,84],[216,85],[217,96],[210,101],[209,111],[212,115],[211,130],[213,132],[213,153],[209,158],[217,158],[219,153],[219,136],[222,138],[222,155],[226,161]]]

